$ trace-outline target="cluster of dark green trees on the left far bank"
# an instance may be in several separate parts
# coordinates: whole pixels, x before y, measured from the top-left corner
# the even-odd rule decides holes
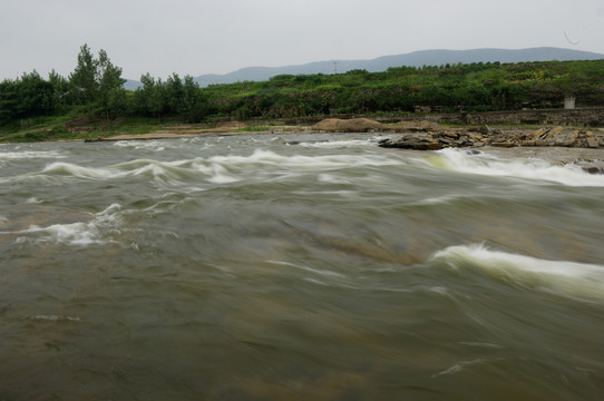
[[[64,78],[52,70],[43,79],[36,70],[0,82],[0,125],[57,116],[79,108],[107,120],[127,116],[181,118],[201,121],[205,106],[193,77],[173,74],[166,81],[149,74],[140,77],[136,91],[124,88],[126,79],[105,50],[98,57],[88,45],[80,48],[75,70]]]

